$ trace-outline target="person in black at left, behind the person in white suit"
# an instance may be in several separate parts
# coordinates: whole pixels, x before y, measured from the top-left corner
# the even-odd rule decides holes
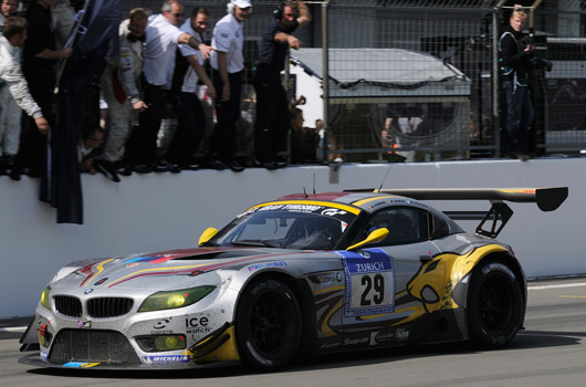
[[[72,49],[55,50],[51,6],[55,0],[36,0],[29,4],[24,18],[28,20],[28,39],[22,51],[22,72],[32,97],[41,107],[49,125],[54,124],[53,102],[56,82],[55,61],[70,57]],[[36,130],[29,119],[22,127],[19,164],[28,168],[31,176],[39,176],[45,165],[46,137]]]

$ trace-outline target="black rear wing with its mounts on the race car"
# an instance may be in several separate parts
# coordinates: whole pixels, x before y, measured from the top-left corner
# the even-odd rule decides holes
[[[490,200],[492,203],[488,212],[484,211],[450,211],[444,212],[452,219],[481,220],[477,233],[496,238],[513,210],[503,201],[534,202],[542,211],[554,211],[566,200],[567,187],[552,188],[387,188],[387,189],[353,189],[352,192],[380,192],[397,195],[416,200]],[[492,220],[490,230],[482,227]]]

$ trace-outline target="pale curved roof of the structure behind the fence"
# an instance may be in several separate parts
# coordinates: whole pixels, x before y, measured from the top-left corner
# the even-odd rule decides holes
[[[322,49],[291,54],[292,72],[323,79]],[[401,49],[329,49],[329,97],[465,96],[471,81],[453,65]]]

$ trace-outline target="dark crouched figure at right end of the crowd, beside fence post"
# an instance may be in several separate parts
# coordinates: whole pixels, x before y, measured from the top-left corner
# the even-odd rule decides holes
[[[293,164],[315,163],[320,136],[315,128],[303,126],[303,111],[291,109],[291,161]]]

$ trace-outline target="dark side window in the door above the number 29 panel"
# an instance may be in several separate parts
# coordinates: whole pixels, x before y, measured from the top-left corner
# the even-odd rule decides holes
[[[387,228],[389,234],[377,245],[415,243],[427,240],[427,212],[409,207],[394,207],[376,212],[366,233]]]

